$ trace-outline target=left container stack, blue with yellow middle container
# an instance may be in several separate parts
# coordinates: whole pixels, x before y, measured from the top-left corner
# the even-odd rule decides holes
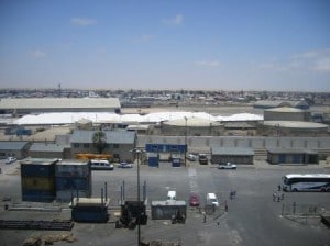
[[[58,159],[26,158],[21,161],[22,200],[52,202],[55,199],[55,164]]]

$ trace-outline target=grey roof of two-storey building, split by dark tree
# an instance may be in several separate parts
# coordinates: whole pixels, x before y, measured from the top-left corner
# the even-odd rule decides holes
[[[72,143],[92,143],[92,136],[97,131],[76,130],[70,138]],[[128,131],[103,131],[108,144],[133,144],[135,142],[135,132]]]

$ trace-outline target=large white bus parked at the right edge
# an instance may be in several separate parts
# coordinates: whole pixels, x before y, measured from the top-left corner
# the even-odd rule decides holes
[[[285,191],[330,191],[330,174],[289,174],[283,177]]]

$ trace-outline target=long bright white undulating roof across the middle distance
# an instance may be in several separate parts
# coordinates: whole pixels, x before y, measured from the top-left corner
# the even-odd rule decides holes
[[[213,116],[205,112],[158,112],[140,114],[116,114],[97,112],[64,112],[64,113],[41,113],[37,115],[28,114],[15,120],[18,125],[38,125],[38,124],[73,124],[80,120],[90,120],[94,123],[118,122],[118,123],[160,123],[162,121],[173,121],[185,118],[199,118],[209,121],[260,121],[263,116],[250,113],[233,114],[231,116]]]

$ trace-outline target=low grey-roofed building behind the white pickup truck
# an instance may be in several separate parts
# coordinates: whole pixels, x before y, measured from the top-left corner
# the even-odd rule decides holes
[[[254,150],[240,147],[211,147],[212,164],[253,164]]]

